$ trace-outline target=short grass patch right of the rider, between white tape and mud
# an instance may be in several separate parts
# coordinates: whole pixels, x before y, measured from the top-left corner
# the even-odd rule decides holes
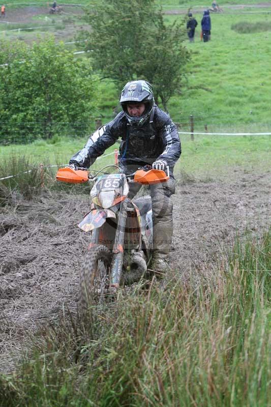
[[[270,136],[181,135],[183,153],[175,177],[185,171],[196,179],[224,179],[233,171],[260,173],[270,168]],[[179,172],[180,171],[180,172]]]

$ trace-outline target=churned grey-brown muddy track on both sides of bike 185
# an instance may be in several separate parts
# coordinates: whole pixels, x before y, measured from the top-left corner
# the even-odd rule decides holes
[[[259,233],[270,219],[271,173],[229,174],[234,181],[177,185],[172,270],[212,278],[223,247],[246,227]],[[88,196],[46,193],[0,212],[0,370],[11,371],[29,334],[76,312],[79,270],[89,237],[77,223]]]

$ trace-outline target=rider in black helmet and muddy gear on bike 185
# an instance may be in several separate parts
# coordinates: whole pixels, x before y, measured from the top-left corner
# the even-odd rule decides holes
[[[173,168],[181,153],[177,128],[169,115],[155,104],[152,86],[145,80],[128,82],[119,102],[123,110],[89,137],[85,147],[71,158],[69,166],[88,168],[118,137],[122,138],[118,162],[125,173],[145,165],[162,170],[169,166],[170,179],[150,185],[154,221],[152,268],[164,273],[169,267],[173,232],[170,198],[175,192]],[[133,198],[141,185],[130,183],[129,187],[128,197]]]

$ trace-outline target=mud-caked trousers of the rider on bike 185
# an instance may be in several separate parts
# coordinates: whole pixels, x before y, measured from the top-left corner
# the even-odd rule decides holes
[[[128,197],[132,199],[141,185],[129,183],[129,188]],[[170,178],[165,183],[150,185],[149,188],[153,208],[154,258],[166,258],[170,252],[173,234],[171,195],[175,192],[175,180]]]

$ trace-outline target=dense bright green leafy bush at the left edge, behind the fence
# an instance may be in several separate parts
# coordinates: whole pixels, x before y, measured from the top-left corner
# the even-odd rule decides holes
[[[33,47],[3,41],[0,49],[8,64],[0,68],[0,143],[89,131],[97,107],[89,60],[75,59],[52,37]]]

